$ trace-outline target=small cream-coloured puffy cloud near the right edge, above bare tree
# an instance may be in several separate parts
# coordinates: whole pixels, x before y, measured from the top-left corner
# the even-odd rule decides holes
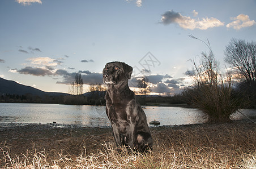
[[[231,17],[231,20],[233,21],[227,24],[226,27],[236,30],[240,30],[241,28],[246,28],[256,24],[254,20],[250,20],[249,16],[244,14],[240,14],[237,17]]]

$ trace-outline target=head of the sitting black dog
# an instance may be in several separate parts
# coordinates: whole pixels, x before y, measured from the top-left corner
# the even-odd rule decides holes
[[[123,62],[114,61],[107,63],[103,69],[103,82],[105,84],[117,84],[131,79],[133,68]]]

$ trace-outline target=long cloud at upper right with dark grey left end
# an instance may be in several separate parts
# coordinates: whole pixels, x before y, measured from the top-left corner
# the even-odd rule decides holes
[[[194,11],[193,11],[194,12]],[[182,16],[179,12],[167,11],[162,15],[161,24],[169,25],[169,24],[178,24],[181,28],[184,29],[200,29],[206,30],[208,28],[214,28],[218,26],[223,26],[220,20],[211,17],[204,17],[200,19],[191,19],[189,16]]]

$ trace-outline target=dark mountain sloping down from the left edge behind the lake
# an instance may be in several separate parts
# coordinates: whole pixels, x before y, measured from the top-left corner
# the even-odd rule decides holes
[[[42,95],[51,95],[51,96],[59,96],[59,95],[69,95],[60,92],[45,92],[41,91],[37,88],[31,86],[25,86],[23,84],[19,84],[14,81],[8,81],[6,79],[0,78],[0,94],[15,94],[15,95],[25,95],[32,94],[37,96]]]

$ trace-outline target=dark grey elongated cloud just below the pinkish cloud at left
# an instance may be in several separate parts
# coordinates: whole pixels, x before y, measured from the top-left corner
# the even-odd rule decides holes
[[[21,74],[31,74],[31,75],[36,75],[36,76],[53,75],[53,73],[48,69],[32,68],[30,66],[27,66],[23,69],[17,70],[17,72],[19,72]]]

